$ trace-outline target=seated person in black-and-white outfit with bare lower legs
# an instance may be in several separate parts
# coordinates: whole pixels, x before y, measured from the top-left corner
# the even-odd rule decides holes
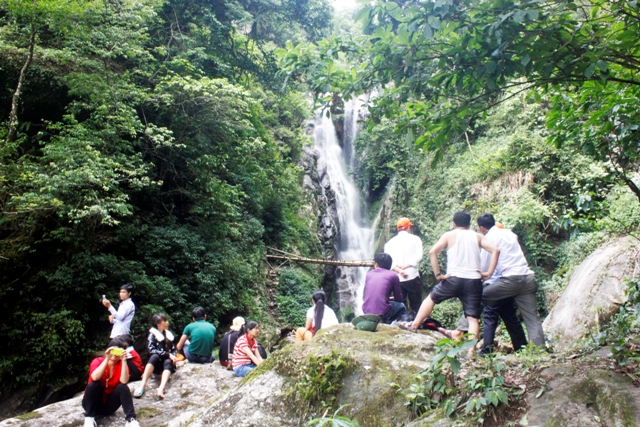
[[[156,391],[156,397],[158,399],[164,399],[164,388],[169,381],[169,377],[176,371],[176,348],[173,344],[173,334],[169,331],[169,321],[167,316],[158,313],[154,314],[151,319],[151,325],[149,329],[149,361],[144,369],[142,375],[142,384],[133,393],[134,397],[142,397],[144,394],[144,388],[147,385],[147,381],[151,378],[151,374],[161,375],[160,387]]]

